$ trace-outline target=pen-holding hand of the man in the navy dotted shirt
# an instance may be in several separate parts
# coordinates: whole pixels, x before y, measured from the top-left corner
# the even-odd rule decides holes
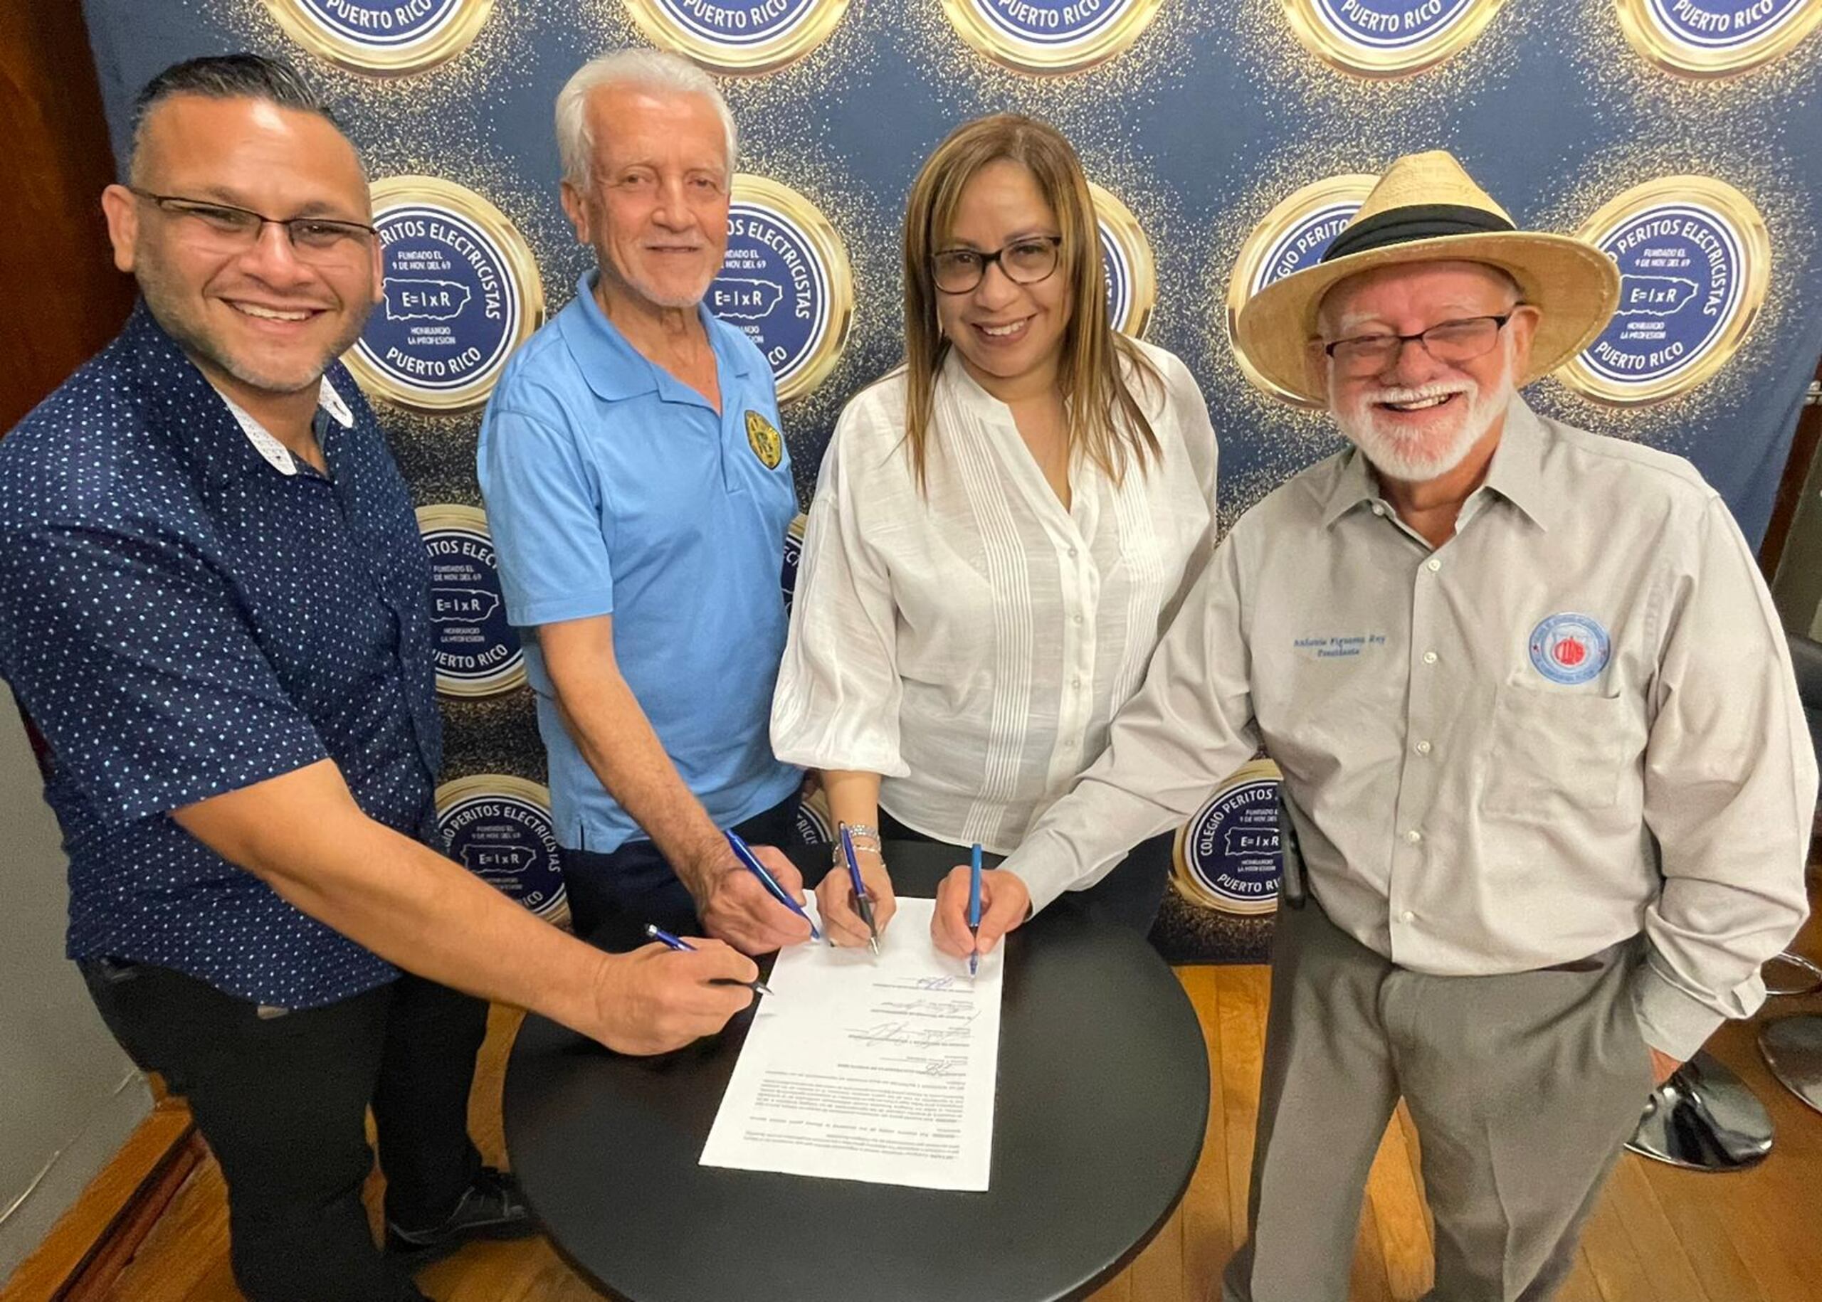
[[[603,954],[594,983],[594,1022],[579,1031],[609,1049],[630,1054],[669,1053],[714,1034],[752,1002],[752,960],[718,940],[691,940],[692,951],[643,945],[629,954]]]

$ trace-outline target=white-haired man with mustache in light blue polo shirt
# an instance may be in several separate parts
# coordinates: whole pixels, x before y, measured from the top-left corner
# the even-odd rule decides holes
[[[767,737],[796,515],[773,373],[701,306],[727,251],[734,124],[714,82],[627,49],[558,97],[563,209],[598,270],[512,359],[479,477],[537,727],[578,934],[645,923],[758,954],[809,925],[722,829],[793,836],[802,772]]]

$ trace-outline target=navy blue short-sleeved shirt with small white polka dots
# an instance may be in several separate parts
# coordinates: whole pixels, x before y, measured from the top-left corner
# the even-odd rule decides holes
[[[0,441],[0,677],[44,743],[71,958],[292,1009],[397,974],[169,818],[328,758],[437,845],[430,568],[372,410],[328,381],[353,426],[319,410],[330,473],[284,475],[140,304]]]

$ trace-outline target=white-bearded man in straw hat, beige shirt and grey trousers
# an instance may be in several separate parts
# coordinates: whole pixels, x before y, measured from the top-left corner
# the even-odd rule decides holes
[[[1233,526],[1106,754],[988,874],[982,949],[1259,743],[1283,768],[1301,907],[1230,1300],[1346,1297],[1399,1096],[1430,1297],[1551,1297],[1653,1083],[1760,1005],[1804,918],[1815,758],[1727,506],[1680,457],[1516,395],[1600,333],[1618,280],[1447,153],[1399,158],[1239,320],[1352,450]],[[935,921],[953,952],[960,887]]]

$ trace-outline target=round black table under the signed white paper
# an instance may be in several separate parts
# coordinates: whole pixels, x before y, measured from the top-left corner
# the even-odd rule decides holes
[[[953,850],[889,843],[902,894]],[[827,850],[796,856],[807,880]],[[751,1012],[660,1058],[528,1016],[507,1067],[512,1169],[563,1256],[627,1302],[1053,1302],[1121,1271],[1188,1187],[1208,1053],[1137,934],[1066,905],[1006,940],[988,1193],[698,1164]]]

